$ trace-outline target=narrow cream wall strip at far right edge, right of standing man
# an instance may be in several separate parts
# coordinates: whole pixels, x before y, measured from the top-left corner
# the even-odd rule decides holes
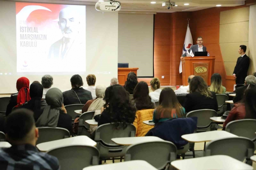
[[[252,74],[256,71],[256,4],[250,6],[249,49],[250,67],[248,74]]]

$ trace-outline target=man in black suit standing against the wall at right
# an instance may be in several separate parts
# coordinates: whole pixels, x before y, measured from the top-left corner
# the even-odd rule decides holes
[[[239,47],[238,53],[241,55],[236,62],[236,67],[233,72],[233,77],[236,80],[236,84],[244,84],[245,78],[247,76],[247,71],[250,65],[250,59],[245,54],[246,46],[241,45]]]

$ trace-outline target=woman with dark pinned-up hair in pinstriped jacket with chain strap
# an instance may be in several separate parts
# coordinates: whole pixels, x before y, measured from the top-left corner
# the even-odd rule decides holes
[[[64,106],[70,104],[85,104],[88,100],[92,99],[92,93],[85,90],[83,86],[82,77],[75,74],[70,79],[72,89],[63,92]]]

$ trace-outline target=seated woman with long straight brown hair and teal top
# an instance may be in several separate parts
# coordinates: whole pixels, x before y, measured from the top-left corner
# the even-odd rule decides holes
[[[153,122],[158,123],[171,118],[185,118],[185,116],[185,109],[179,103],[173,89],[164,88],[160,94],[159,106],[153,113]]]

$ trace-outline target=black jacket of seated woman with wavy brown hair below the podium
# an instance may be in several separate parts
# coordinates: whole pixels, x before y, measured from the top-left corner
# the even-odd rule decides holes
[[[218,103],[216,94],[212,92],[212,98],[207,98],[200,92],[189,93],[185,97],[184,108],[186,112],[199,110],[199,109],[212,109],[218,111]]]

